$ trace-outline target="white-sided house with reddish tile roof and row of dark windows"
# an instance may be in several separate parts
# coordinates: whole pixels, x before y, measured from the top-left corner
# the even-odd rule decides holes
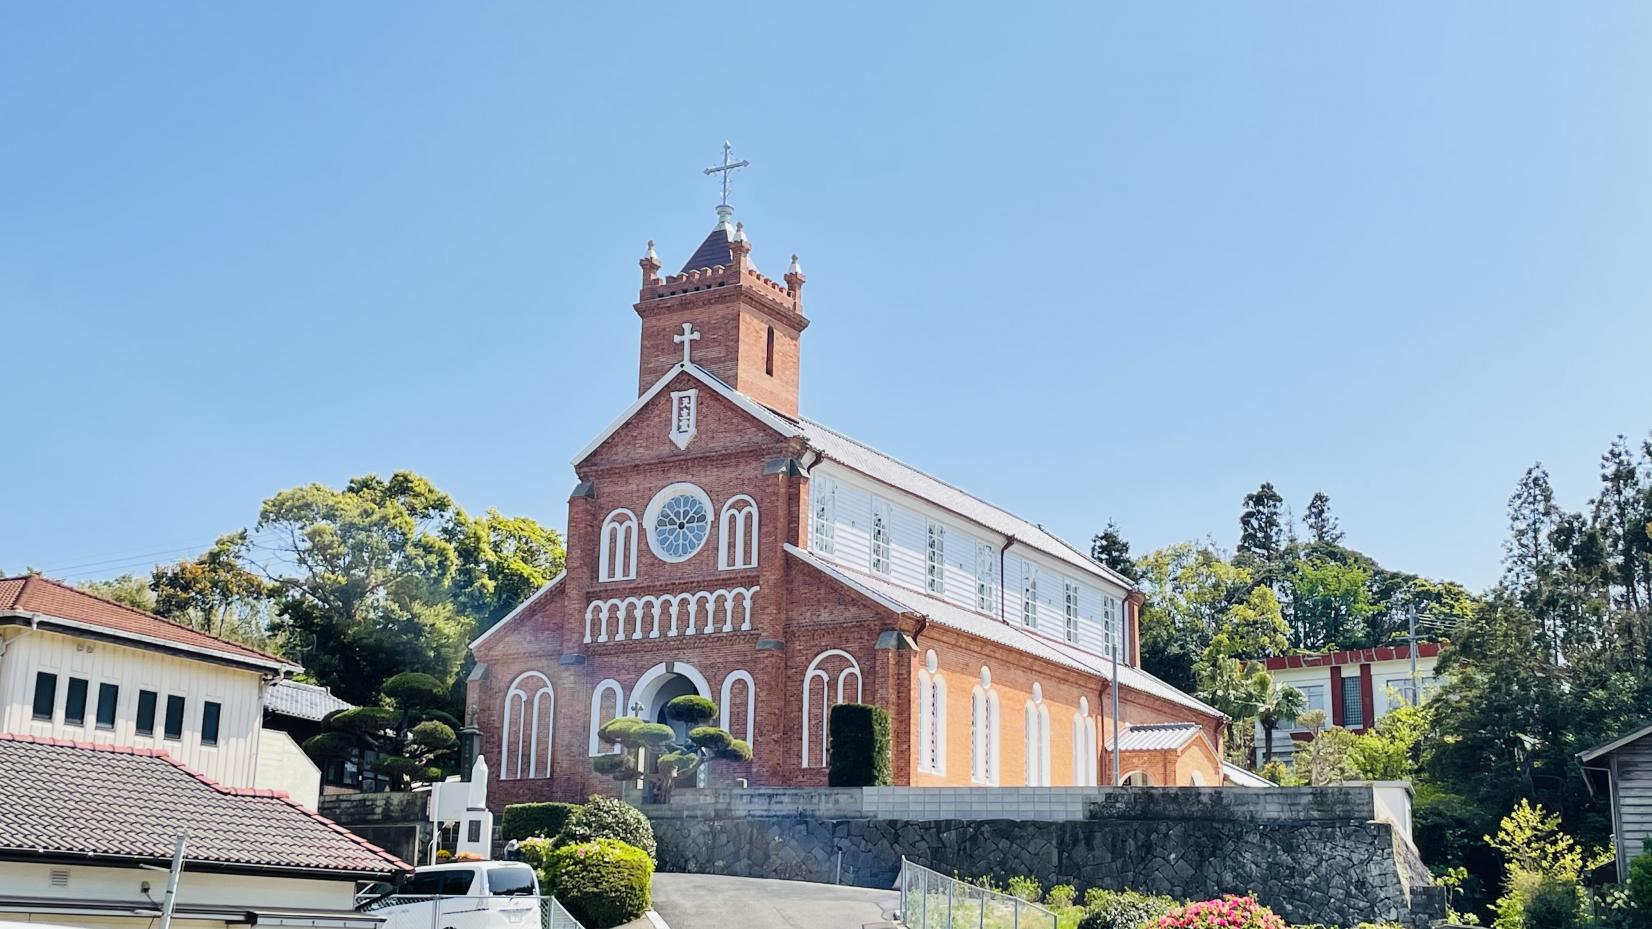
[[[266,688],[299,669],[45,577],[0,579],[0,734],[157,749],[314,807],[319,770],[263,726]]]

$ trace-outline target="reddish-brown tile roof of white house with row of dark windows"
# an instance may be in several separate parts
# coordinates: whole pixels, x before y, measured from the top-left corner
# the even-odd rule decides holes
[[[40,620],[66,635],[99,635],[134,648],[185,651],[198,658],[276,671],[299,671],[286,658],[203,633],[154,613],[104,600],[40,575],[0,579],[0,620]]]

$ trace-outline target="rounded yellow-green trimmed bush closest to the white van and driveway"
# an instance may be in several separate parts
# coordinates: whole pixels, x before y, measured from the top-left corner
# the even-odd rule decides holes
[[[648,911],[654,860],[620,840],[596,838],[552,851],[540,878],[586,929],[610,929]]]

